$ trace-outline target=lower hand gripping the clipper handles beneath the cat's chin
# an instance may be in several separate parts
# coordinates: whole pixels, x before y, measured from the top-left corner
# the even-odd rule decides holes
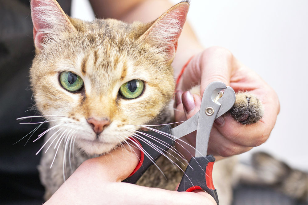
[[[216,204],[200,190],[168,191],[121,182],[139,163],[136,153],[140,151],[124,145],[83,162],[45,204]]]

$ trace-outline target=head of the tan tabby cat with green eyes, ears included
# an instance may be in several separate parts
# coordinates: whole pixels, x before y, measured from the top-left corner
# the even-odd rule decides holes
[[[181,2],[151,23],[127,24],[84,22],[55,0],[32,0],[30,77],[39,111],[88,154],[115,148],[172,99],[171,63],[188,7]]]

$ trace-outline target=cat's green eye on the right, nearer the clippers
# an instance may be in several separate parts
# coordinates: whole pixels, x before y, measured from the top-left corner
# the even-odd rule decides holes
[[[140,80],[132,80],[124,83],[120,87],[120,94],[127,98],[133,99],[139,97],[144,90],[144,82]]]

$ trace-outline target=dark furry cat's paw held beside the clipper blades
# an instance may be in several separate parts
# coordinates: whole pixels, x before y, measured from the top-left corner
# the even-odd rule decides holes
[[[236,93],[236,101],[230,109],[234,120],[241,124],[253,124],[261,120],[263,107],[259,99],[248,92]]]

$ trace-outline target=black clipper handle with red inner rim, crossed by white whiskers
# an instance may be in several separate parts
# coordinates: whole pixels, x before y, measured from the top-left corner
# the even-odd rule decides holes
[[[144,154],[143,162],[140,168],[133,172],[133,175],[124,179],[122,182],[135,184],[144,172],[147,171],[152,164],[156,163],[156,160],[162,155],[161,152],[167,152],[167,150],[175,144],[172,136],[168,136],[168,134],[172,135],[171,126],[169,124],[162,127],[159,132],[140,132],[143,132],[143,134],[138,133],[138,138],[142,138],[142,140],[135,139],[138,140],[144,150],[141,150],[141,154]],[[153,148],[153,146],[155,148]]]

